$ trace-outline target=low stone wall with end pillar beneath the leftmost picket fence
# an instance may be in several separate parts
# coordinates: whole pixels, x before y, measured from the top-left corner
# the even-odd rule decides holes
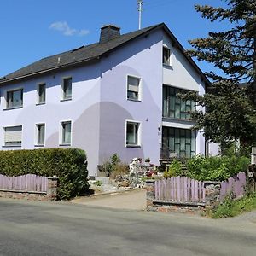
[[[38,201],[55,201],[57,200],[57,187],[58,177],[48,177],[48,189],[46,192],[0,189],[0,197]]]

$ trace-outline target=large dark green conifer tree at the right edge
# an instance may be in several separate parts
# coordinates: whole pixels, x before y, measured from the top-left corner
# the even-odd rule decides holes
[[[191,92],[181,98],[207,109],[206,113],[190,113],[196,122],[194,128],[203,129],[207,139],[222,147],[234,140],[240,140],[241,146],[252,146],[256,143],[256,2],[225,2],[227,8],[195,6],[203,18],[228,21],[230,29],[209,32],[207,38],[189,42],[194,49],[188,54],[212,63],[219,72],[206,73],[212,85],[204,96]]]

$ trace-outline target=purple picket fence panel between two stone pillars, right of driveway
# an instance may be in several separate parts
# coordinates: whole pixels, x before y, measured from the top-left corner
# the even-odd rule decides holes
[[[156,200],[205,202],[204,183],[189,177],[171,177],[156,180],[154,185]]]

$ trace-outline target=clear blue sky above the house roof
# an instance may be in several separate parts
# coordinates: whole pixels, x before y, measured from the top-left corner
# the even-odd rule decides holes
[[[144,0],[142,27],[165,22],[188,49],[189,39],[224,29],[222,23],[202,19],[195,4],[224,2]],[[0,2],[0,9],[0,77],[43,57],[97,42],[102,25],[120,26],[121,33],[138,28],[137,0],[8,0]]]

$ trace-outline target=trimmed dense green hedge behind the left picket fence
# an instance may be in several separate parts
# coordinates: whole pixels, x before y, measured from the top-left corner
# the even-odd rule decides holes
[[[82,195],[89,189],[86,155],[78,148],[0,151],[0,173],[6,176],[56,175],[59,199]]]

